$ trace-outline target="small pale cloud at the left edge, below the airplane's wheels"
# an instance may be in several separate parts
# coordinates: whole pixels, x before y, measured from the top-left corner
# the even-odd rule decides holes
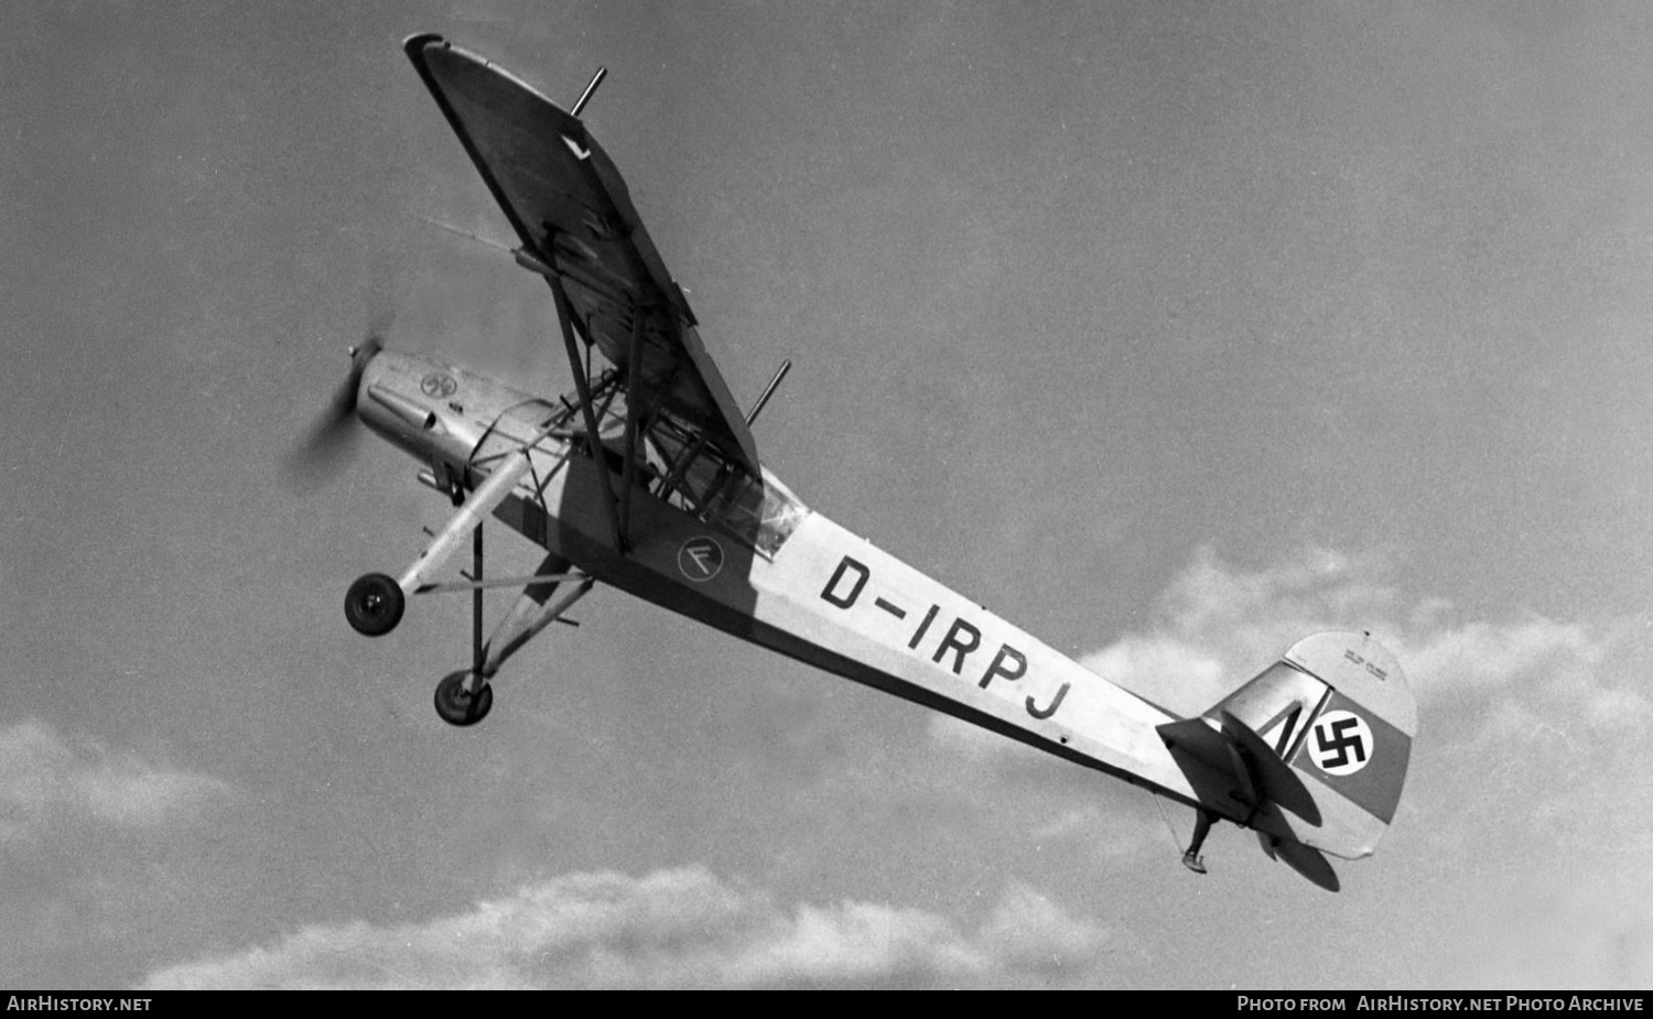
[[[53,818],[155,827],[228,794],[215,778],[66,740],[38,720],[0,727],[0,844],[36,837]]]

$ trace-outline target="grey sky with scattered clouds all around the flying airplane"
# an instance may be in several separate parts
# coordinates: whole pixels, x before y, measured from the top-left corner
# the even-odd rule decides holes
[[[3,983],[1653,986],[1646,5],[7,15]],[[1185,808],[602,588],[441,723],[466,600],[342,598],[446,502],[372,438],[281,474],[372,322],[570,386],[542,281],[422,220],[511,236],[415,31],[608,68],[815,510],[1185,713],[1372,631],[1377,855],[1195,877]]]

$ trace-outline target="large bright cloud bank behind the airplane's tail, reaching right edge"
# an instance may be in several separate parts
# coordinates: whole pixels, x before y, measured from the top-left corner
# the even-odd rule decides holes
[[[1474,618],[1428,591],[1407,591],[1389,552],[1309,547],[1255,570],[1202,550],[1146,626],[1081,664],[1165,709],[1197,715],[1324,629],[1370,631],[1400,661],[1418,699],[1418,740],[1402,813],[1440,852],[1473,852],[1474,832],[1519,811],[1522,852],[1632,854],[1653,847],[1653,821],[1627,809],[1653,796],[1653,725],[1641,677],[1653,641],[1641,619]],[[1018,781],[1025,748],[954,720],[931,723],[932,750],[965,756],[980,781]],[[1028,773],[1031,775],[1031,773]],[[1040,781],[1046,781],[1041,773]],[[1046,801],[1038,837],[1104,824],[1089,803]],[[1587,819],[1587,821],[1585,821]],[[1116,839],[1119,855],[1129,842]]]

